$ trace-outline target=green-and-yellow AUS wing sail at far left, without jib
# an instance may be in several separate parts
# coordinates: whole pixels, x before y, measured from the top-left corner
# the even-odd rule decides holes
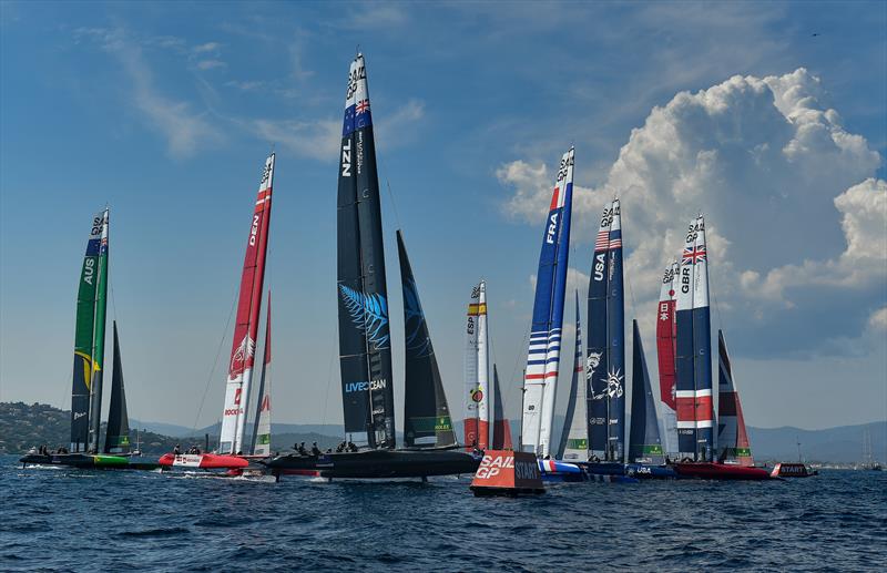
[[[102,243],[105,243],[106,259],[108,209],[100,211],[92,218],[92,228],[86,242],[86,254],[80,272],[80,287],[77,295],[77,328],[74,331],[74,374],[71,388],[71,452],[86,451],[90,448],[90,396],[93,372],[101,368],[95,359],[94,335],[98,328],[95,304],[101,288],[99,258]],[[106,268],[108,265],[105,264]],[[104,332],[104,325],[101,327]]]

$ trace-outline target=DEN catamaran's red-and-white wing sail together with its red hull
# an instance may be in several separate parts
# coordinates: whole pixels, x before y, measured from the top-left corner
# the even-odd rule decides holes
[[[262,294],[264,291],[271,199],[274,186],[274,153],[265,160],[253,216],[249,221],[249,233],[246,237],[246,255],[243,263],[236,324],[225,385],[225,406],[222,412],[218,449],[214,453],[166,453],[160,459],[161,465],[200,469],[242,469],[248,465],[248,461],[243,458],[246,446],[244,429],[249,411],[249,387],[253,380],[258,323],[262,316]],[[266,357],[269,357],[267,338],[265,346]],[[259,396],[259,400],[264,400],[264,397]]]

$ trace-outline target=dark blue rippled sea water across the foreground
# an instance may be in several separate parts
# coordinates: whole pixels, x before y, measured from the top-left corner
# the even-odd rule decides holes
[[[282,483],[0,457],[0,570],[877,570],[887,472],[785,482]]]

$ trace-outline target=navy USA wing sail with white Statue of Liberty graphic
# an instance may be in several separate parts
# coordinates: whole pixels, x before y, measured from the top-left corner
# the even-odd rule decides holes
[[[606,205],[594,242],[589,278],[589,347],[585,361],[591,459],[624,461],[625,311],[622,219],[619,199]]]

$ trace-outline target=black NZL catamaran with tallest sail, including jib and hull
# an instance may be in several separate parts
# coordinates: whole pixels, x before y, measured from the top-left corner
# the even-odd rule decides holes
[[[470,473],[479,460],[456,448],[452,422],[418,289],[398,234],[405,299],[405,442],[397,450],[388,289],[373,116],[363,54],[345,94],[337,201],[336,284],[345,433],[357,451],[283,456],[275,473],[314,468],[325,478],[426,478]]]

